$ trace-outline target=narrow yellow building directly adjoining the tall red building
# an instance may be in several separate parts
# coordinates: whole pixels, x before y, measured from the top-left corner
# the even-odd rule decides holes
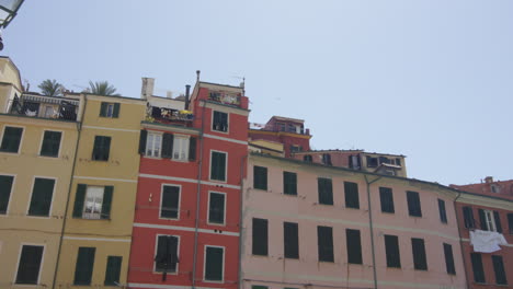
[[[54,288],[126,285],[146,101],[84,95]]]

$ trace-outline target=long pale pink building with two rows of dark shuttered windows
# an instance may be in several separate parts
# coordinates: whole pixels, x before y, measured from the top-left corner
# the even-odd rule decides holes
[[[465,288],[453,200],[417,180],[250,154],[241,288]]]

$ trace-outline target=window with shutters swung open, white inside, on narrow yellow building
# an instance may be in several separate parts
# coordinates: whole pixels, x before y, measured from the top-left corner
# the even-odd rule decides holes
[[[78,184],[73,218],[111,219],[113,190],[113,186],[102,187]]]

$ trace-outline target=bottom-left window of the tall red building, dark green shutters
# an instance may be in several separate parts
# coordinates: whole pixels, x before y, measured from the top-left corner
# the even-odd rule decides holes
[[[157,236],[157,254],[155,256],[155,271],[176,273],[179,259],[179,238],[175,235]]]

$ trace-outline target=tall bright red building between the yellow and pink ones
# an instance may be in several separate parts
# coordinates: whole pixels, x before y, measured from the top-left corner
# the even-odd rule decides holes
[[[189,96],[152,95],[141,153],[129,288],[237,288],[248,97],[197,81]]]

